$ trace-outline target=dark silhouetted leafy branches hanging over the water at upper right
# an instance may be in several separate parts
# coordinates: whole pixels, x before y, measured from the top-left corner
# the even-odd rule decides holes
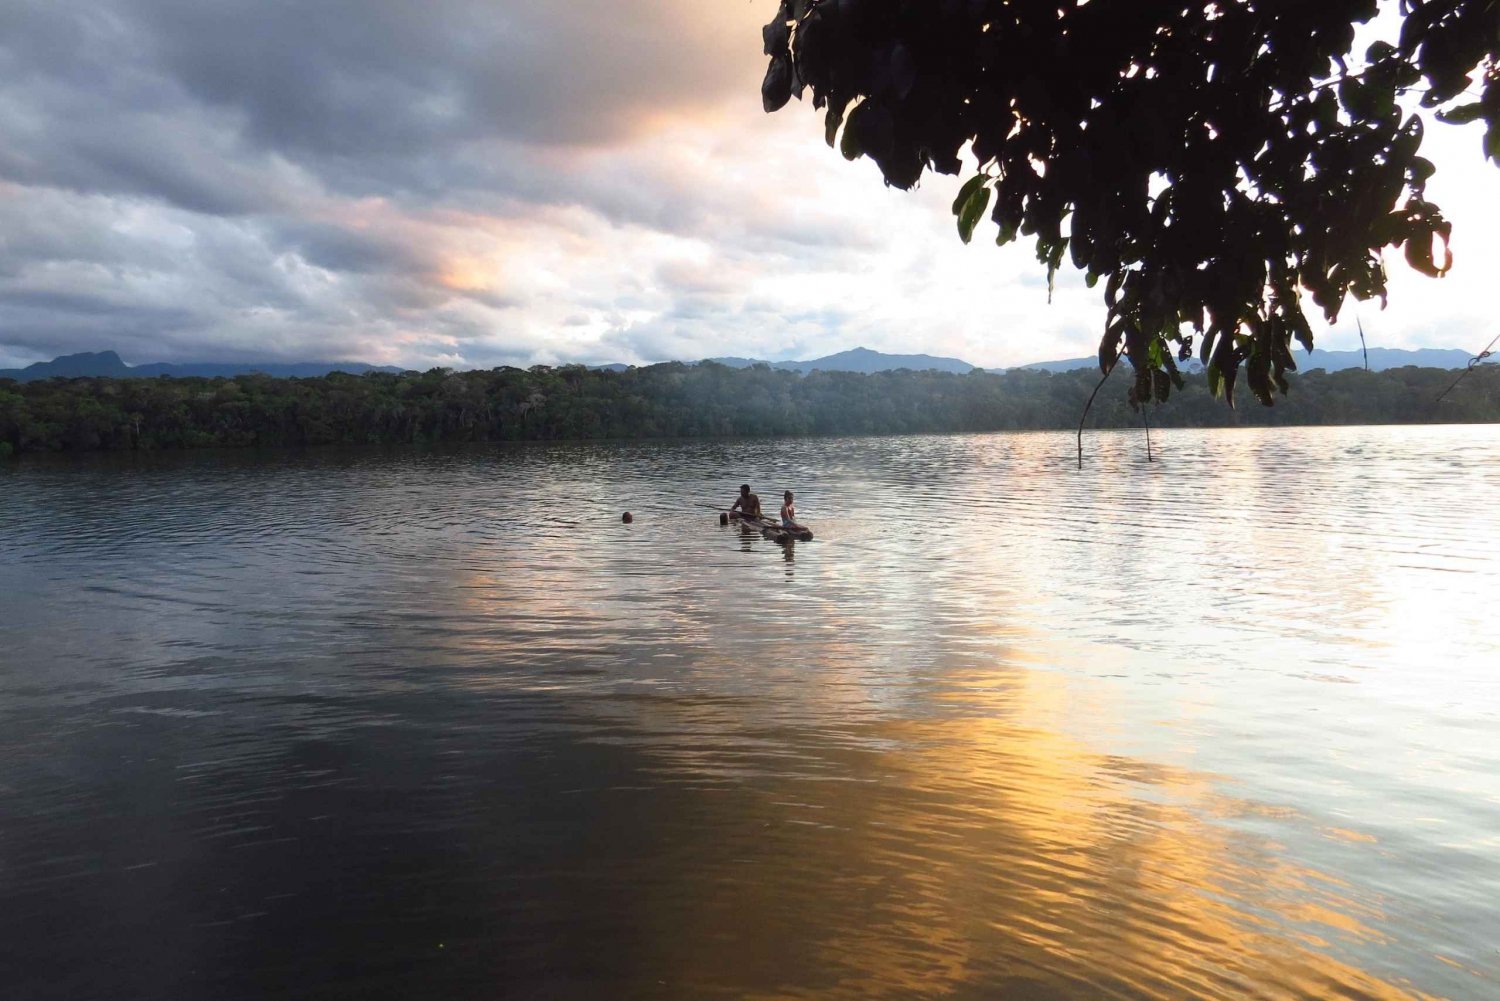
[[[1233,405],[1272,402],[1312,347],[1306,302],[1386,297],[1383,248],[1452,267],[1425,197],[1420,113],[1484,122],[1500,164],[1500,0],[1400,0],[1395,44],[1353,54],[1376,0],[783,0],[764,29],[766,111],[812,93],[830,146],[886,183],[978,173],[969,242],[1035,242],[1104,284],[1100,366],[1166,401],[1194,351]]]

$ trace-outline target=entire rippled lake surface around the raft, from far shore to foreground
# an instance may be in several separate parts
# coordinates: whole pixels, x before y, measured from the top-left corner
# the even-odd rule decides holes
[[[1500,996],[1500,428],[1140,444],[0,467],[0,995]]]

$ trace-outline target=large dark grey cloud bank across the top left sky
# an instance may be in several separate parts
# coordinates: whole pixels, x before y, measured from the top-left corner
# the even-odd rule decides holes
[[[506,171],[464,150],[609,144],[717,99],[753,48],[686,41],[694,17],[681,0],[8,5],[0,171],[212,213],[272,200],[248,176],[261,158],[339,191],[488,188]]]

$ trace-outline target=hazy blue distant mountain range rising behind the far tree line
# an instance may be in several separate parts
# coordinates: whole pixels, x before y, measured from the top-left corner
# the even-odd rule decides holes
[[[1298,371],[1300,372],[1316,368],[1335,372],[1348,368],[1364,368],[1365,365],[1365,359],[1360,351],[1323,351],[1322,348],[1314,348],[1311,356],[1305,351],[1293,351],[1293,357],[1296,357]],[[1380,372],[1390,368],[1402,368],[1406,365],[1414,365],[1418,368],[1461,369],[1468,365],[1470,357],[1472,356],[1467,351],[1461,351],[1458,348],[1418,348],[1412,351],[1402,348],[1370,348],[1370,369]],[[802,374],[814,371],[870,374],[890,372],[904,368],[918,372],[936,369],[939,372],[957,372],[962,375],[978,368],[976,365],[970,365],[962,359],[940,357],[936,354],[885,354],[884,351],[872,351],[870,348],[854,348],[852,351],[840,351],[837,354],[828,354],[820,359],[808,359],[806,362],[762,362],[759,359],[741,357],[718,357],[705,360],[728,365],[730,368],[770,365],[774,369]],[[1062,359],[1056,362],[1035,362],[1018,368],[1042,369],[1047,372],[1068,372],[1080,368],[1095,368],[1098,359],[1083,357]],[[620,372],[630,366],[597,365],[594,368]],[[1197,371],[1202,366],[1198,366],[1194,360],[1184,368],[1188,371]],[[360,375],[363,372],[402,371],[405,369],[390,365],[366,365],[363,362],[186,362],[182,365],[158,362],[154,365],[126,365],[114,351],[86,351],[82,354],[64,354],[52,359],[51,362],[38,362],[36,365],[28,365],[22,369],[0,369],[0,378],[14,378],[21,383],[39,378],[78,378],[87,375],[105,375],[111,378],[152,378],[156,375],[231,378],[234,375],[249,375],[252,372],[262,372],[266,375],[280,378],[316,378],[320,375],[327,375],[328,372],[348,372],[351,375]],[[988,371],[1004,372],[1005,369]]]

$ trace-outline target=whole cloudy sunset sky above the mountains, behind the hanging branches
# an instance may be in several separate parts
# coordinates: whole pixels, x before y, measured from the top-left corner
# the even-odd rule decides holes
[[[1104,308],[1029,248],[963,246],[958,180],[886,189],[795,102],[774,0],[9,0],[0,368],[336,359],[428,368],[1092,354]],[[1458,266],[1392,266],[1371,344],[1497,332],[1500,171],[1428,131]],[[1358,347],[1354,311],[1320,345]]]

